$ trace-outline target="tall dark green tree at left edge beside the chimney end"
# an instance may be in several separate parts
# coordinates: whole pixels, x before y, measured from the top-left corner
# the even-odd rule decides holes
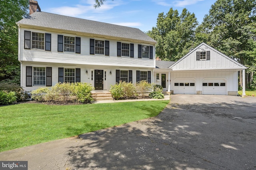
[[[15,22],[28,15],[28,0],[0,0],[0,80],[19,83],[18,26]]]

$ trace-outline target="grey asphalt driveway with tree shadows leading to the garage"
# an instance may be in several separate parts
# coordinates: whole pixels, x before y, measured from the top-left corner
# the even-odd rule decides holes
[[[1,152],[0,160],[28,160],[31,170],[254,170],[256,97],[171,95],[158,117]]]

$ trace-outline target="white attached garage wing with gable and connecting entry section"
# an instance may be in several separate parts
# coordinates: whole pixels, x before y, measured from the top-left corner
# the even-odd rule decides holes
[[[220,51],[201,43],[177,62],[156,61],[154,83],[172,94],[238,94],[238,71],[246,67]]]

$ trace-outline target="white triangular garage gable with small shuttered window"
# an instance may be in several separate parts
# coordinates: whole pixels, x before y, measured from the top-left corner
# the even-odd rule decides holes
[[[220,51],[201,43],[169,68],[172,70],[246,69]]]

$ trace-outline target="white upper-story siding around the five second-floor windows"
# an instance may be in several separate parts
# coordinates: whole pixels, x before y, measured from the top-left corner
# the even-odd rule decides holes
[[[31,32],[50,33],[51,34],[51,51],[38,49],[24,49],[24,30]],[[80,37],[81,53],[58,52],[58,35]],[[90,55],[90,38],[110,41],[110,55]],[[133,43],[134,57],[117,57],[117,42]],[[143,44],[152,46],[152,44]],[[50,31],[41,31],[33,29],[20,29],[20,61],[47,62],[47,63],[69,63],[69,64],[91,64],[102,66],[128,66],[154,68],[155,48],[153,45],[153,59],[138,59],[138,43],[118,41],[111,39],[102,39],[95,37],[86,37],[72,34],[61,34]]]

